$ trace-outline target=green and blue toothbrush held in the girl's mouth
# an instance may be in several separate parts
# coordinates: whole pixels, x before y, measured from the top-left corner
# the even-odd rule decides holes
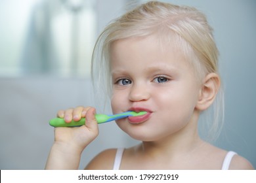
[[[134,112],[134,111],[127,111],[120,114],[114,114],[114,115],[106,115],[106,114],[95,114],[96,121],[98,124],[103,124],[106,122],[111,122],[114,120],[118,120],[121,118],[126,118],[128,116],[142,116],[146,114],[146,111],[140,111],[140,112]],[[85,118],[81,118],[78,122],[72,122],[66,123],[63,118],[54,118],[50,120],[49,124],[53,127],[75,127],[75,126],[81,126],[85,124]]]

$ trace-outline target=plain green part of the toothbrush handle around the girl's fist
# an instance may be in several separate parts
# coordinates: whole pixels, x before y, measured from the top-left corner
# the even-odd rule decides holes
[[[95,118],[98,124],[102,124],[106,122],[108,116],[104,114],[96,114]],[[52,120],[50,120],[49,124],[53,127],[75,127],[75,126],[84,125],[85,118],[81,118],[81,120],[79,120],[78,122],[74,122],[74,120],[72,120],[72,122],[70,123],[66,123],[64,121],[64,118],[53,118]]]

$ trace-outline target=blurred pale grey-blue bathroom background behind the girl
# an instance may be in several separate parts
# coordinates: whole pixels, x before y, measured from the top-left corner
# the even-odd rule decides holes
[[[93,105],[103,111],[91,90],[93,46],[110,20],[142,2],[0,0],[0,169],[44,169],[54,140],[48,122],[58,110]],[[256,167],[256,1],[165,2],[202,10],[215,29],[225,118],[214,144]],[[101,150],[137,143],[115,123],[102,124],[79,169]]]

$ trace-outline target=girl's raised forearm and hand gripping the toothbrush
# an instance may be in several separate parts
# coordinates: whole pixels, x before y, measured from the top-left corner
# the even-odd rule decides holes
[[[98,124],[95,120],[95,108],[77,107],[58,112],[58,117],[66,122],[72,119],[86,118],[86,124],[80,127],[56,127],[54,144],[51,148],[45,169],[78,169],[81,153],[98,135]]]

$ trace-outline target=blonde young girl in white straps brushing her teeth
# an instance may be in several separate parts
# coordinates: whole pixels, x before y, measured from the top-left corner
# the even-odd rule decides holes
[[[113,114],[147,113],[116,121],[141,144],[105,150],[85,169],[253,169],[198,135],[200,113],[221,86],[217,60],[212,29],[195,8],[150,1],[108,25],[96,42],[93,79],[109,86]],[[98,135],[95,114],[93,107],[58,112],[67,123],[84,117],[87,123],[54,129],[46,169],[79,167]]]

